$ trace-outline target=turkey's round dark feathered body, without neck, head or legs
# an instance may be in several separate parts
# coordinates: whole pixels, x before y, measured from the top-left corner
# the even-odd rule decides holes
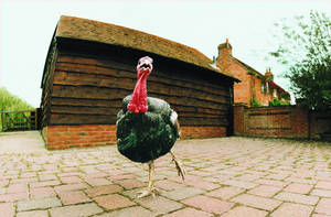
[[[118,151],[135,162],[146,163],[167,154],[173,147],[179,129],[171,116],[175,112],[162,99],[148,97],[147,112],[130,112],[127,105],[131,95],[122,100],[122,109],[117,115]]]

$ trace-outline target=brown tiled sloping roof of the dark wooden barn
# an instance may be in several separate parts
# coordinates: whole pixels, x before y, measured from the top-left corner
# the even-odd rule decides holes
[[[195,48],[120,25],[62,15],[57,23],[55,37],[78,39],[140,50],[193,64],[238,82],[234,75],[213,67],[212,59]]]

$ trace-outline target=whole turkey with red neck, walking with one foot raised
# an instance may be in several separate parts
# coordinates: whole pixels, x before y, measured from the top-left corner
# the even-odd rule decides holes
[[[147,78],[152,70],[152,58],[145,56],[138,61],[137,84],[132,95],[122,99],[122,108],[117,115],[117,149],[134,162],[148,163],[149,184],[138,196],[154,196],[154,160],[170,153],[179,176],[184,181],[182,163],[171,151],[180,138],[178,115],[170,105],[159,98],[147,97]]]

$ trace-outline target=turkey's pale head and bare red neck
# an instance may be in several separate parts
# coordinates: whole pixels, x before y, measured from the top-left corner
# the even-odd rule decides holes
[[[138,61],[138,65],[137,65],[138,80],[136,83],[132,97],[127,106],[127,109],[129,111],[132,111],[135,113],[139,113],[139,112],[143,113],[148,110],[146,80],[148,75],[151,73],[153,68],[152,62],[153,59],[149,56],[141,57]]]

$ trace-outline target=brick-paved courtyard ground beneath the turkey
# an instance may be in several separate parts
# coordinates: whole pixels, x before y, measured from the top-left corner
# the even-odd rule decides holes
[[[331,216],[331,143],[234,137],[179,141],[174,152],[186,182],[166,155],[161,194],[137,199],[147,166],[115,145],[0,150],[0,216]]]

